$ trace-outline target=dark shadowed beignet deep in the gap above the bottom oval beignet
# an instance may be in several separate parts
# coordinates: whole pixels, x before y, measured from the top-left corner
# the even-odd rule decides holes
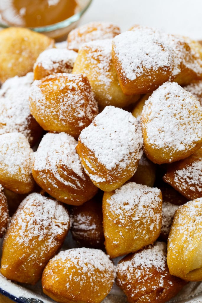
[[[102,195],[80,206],[72,206],[71,234],[81,247],[104,248],[104,232],[102,226]]]

